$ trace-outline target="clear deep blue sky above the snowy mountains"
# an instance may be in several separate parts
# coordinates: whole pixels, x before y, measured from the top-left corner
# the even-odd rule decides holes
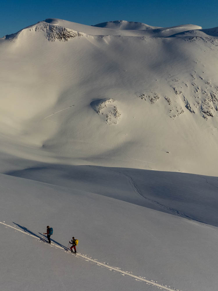
[[[218,1],[32,1],[1,0],[0,37],[46,18],[60,18],[82,24],[112,20],[143,22],[152,26],[197,24],[218,26]]]

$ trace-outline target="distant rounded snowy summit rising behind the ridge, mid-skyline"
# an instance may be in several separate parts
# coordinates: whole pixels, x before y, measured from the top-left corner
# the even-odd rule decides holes
[[[144,30],[144,29],[159,28],[158,26],[150,26],[145,23],[132,22],[132,21],[126,21],[126,20],[108,21],[108,22],[95,24],[92,26],[104,27],[104,28],[109,28],[109,29],[131,29],[131,30],[134,30],[134,29]]]

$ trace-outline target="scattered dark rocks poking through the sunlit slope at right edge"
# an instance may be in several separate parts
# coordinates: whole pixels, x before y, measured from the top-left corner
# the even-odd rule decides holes
[[[203,65],[202,67],[204,68]],[[150,91],[138,97],[145,101],[150,100],[151,104],[156,103],[160,97],[164,98],[171,106],[169,116],[173,119],[185,113],[186,109],[190,113],[198,113],[206,120],[214,117],[218,111],[218,86],[210,80],[205,80],[196,71],[191,72],[189,76],[184,77],[185,81],[171,79],[169,92],[165,96],[161,96],[161,92]]]

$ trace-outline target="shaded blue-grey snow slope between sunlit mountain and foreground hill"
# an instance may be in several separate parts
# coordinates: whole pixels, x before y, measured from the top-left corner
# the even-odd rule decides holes
[[[35,164],[8,175],[115,198],[218,226],[218,178],[99,166]]]

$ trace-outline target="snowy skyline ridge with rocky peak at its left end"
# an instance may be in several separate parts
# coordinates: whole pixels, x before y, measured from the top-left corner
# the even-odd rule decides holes
[[[173,27],[150,26],[140,22],[128,22],[117,20],[88,26],[75,22],[69,22],[57,18],[48,18],[37,24],[31,25],[21,31],[7,35],[3,39],[16,39],[19,33],[29,29],[42,31],[48,40],[68,40],[75,36],[93,35],[93,36],[135,36],[135,37],[168,37],[184,31],[202,29],[201,26],[186,24]]]

